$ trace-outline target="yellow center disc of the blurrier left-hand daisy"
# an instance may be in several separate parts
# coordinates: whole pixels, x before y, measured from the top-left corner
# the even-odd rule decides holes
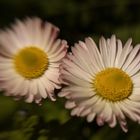
[[[16,71],[27,79],[40,77],[48,68],[47,54],[35,46],[21,49],[13,60]]]

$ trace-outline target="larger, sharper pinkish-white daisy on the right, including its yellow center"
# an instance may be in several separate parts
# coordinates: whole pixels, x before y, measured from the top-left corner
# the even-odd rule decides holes
[[[119,122],[127,132],[126,117],[140,122],[140,45],[129,39],[124,47],[115,35],[99,41],[79,41],[63,60],[60,76],[66,85],[59,93],[66,97],[71,115],[96,118],[114,127]]]

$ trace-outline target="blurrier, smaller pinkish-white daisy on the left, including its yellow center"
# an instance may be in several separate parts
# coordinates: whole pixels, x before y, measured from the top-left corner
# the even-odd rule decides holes
[[[59,29],[39,18],[17,20],[0,31],[0,89],[5,95],[39,103],[54,98],[60,88],[59,65],[67,42],[57,39]]]

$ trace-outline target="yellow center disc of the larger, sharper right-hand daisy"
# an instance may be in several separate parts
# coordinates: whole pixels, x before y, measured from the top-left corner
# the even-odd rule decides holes
[[[92,84],[97,95],[113,102],[128,98],[133,88],[129,75],[118,68],[107,68],[97,73]]]

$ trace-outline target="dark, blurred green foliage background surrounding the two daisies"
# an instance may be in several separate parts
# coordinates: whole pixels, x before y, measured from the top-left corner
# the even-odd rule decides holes
[[[91,36],[116,34],[123,43],[140,42],[140,1],[136,0],[0,0],[0,28],[16,18],[38,16],[58,26],[60,36],[73,45]],[[2,94],[2,93],[1,93]],[[57,94],[57,92],[56,92]],[[0,140],[140,140],[140,126],[128,120],[129,131],[106,124],[98,127],[84,118],[70,117],[64,99],[42,106],[0,96]]]

